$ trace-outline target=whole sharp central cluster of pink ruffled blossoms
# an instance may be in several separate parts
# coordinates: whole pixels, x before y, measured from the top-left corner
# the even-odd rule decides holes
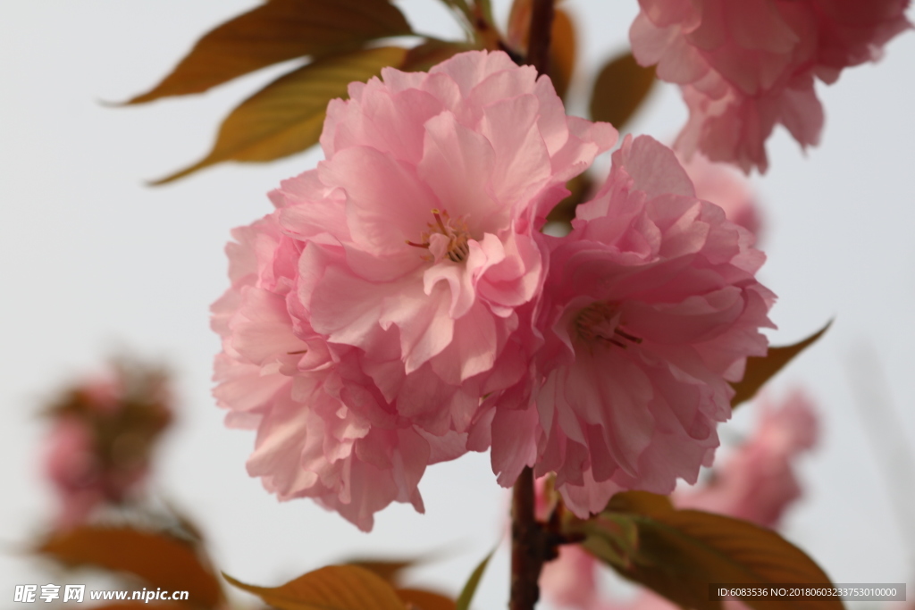
[[[627,137],[565,237],[565,183],[617,144],[502,52],[382,70],[329,104],[326,159],[234,230],[216,398],[248,472],[363,530],[423,510],[426,466],[491,447],[499,482],[556,473],[586,516],[694,482],[773,295],[753,235],[673,151]]]

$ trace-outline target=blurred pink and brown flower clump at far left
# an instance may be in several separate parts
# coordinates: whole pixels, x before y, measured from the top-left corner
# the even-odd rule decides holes
[[[127,362],[59,395],[48,410],[53,423],[44,455],[60,502],[58,527],[79,525],[143,487],[156,440],[171,420],[170,403],[160,371]]]

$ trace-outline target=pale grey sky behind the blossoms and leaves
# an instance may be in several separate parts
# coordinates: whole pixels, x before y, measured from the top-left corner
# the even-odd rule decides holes
[[[124,348],[167,363],[177,380],[178,425],[161,447],[156,493],[202,524],[217,565],[242,581],[272,585],[354,555],[433,550],[444,559],[414,573],[415,580],[457,593],[504,534],[508,499],[488,455],[431,467],[421,484],[426,514],[388,508],[366,535],[310,501],[277,503],[245,473],[253,433],[221,423],[210,398],[219,341],[208,307],[228,284],[223,245],[232,227],[270,209],[268,190],[314,166],[318,153],[218,166],[167,187],[144,184],[202,156],[221,118],[282,68],[185,99],[131,108],[105,102],[147,90],[206,30],[255,4],[38,0],[0,8],[6,604],[15,584],[53,582],[17,551],[54,513],[39,463],[46,425],[38,406]],[[504,23],[509,3],[494,4]],[[415,29],[459,36],[438,3],[397,5]],[[579,27],[586,70],[575,86],[583,99],[590,83],[582,77],[627,48],[638,5],[565,6]],[[835,319],[769,392],[778,400],[802,385],[820,407],[822,442],[802,460],[805,499],[785,532],[838,583],[911,585],[915,576],[915,528],[900,523],[890,502],[893,493],[908,506],[915,500],[905,451],[915,437],[913,65],[915,35],[906,33],[877,65],[846,70],[835,85],[820,87],[821,146],[804,155],[779,129],[768,144],[769,173],[753,178],[769,254],[761,277],[780,298],[772,342],[792,343]],[[585,107],[579,102],[569,111]],[[627,131],[672,141],[685,116],[678,91],[662,85]],[[853,390],[867,384],[873,389],[856,401]],[[743,407],[722,427],[726,444],[754,418],[754,406]],[[876,423],[879,442],[869,440],[866,422]],[[500,607],[507,595],[503,547],[477,605]]]

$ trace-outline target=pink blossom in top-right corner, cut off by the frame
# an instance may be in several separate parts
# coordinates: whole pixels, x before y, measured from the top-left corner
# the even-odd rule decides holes
[[[909,0],[640,0],[632,52],[681,86],[689,120],[676,147],[766,171],[776,124],[817,144],[823,107],[815,79],[878,59],[910,26]]]

